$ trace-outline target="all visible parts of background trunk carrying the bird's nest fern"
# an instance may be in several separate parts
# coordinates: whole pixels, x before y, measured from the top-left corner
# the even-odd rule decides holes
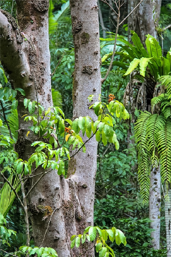
[[[128,1],[128,13],[130,13],[139,3],[138,0]],[[146,35],[150,34],[157,38],[156,26],[160,17],[161,0],[144,0],[139,7],[128,18],[128,30],[135,31],[141,39],[143,46],[145,45]],[[131,42],[131,33],[129,33],[129,42]],[[150,111],[150,101],[153,97],[155,84],[151,79],[145,78],[139,90],[141,100],[143,102],[143,111]],[[129,93],[133,92],[132,83],[129,83]],[[133,99],[133,93],[129,98]],[[138,107],[138,105],[137,105]],[[131,108],[132,109],[132,108]],[[140,107],[142,109],[142,107]],[[133,113],[134,117],[134,113]],[[151,233],[153,238],[152,245],[154,249],[160,249],[160,168],[152,168],[150,174],[150,194],[149,194],[149,218],[152,220],[150,227],[155,229]]]

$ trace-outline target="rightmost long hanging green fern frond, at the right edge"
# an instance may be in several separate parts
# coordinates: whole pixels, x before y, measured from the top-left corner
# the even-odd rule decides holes
[[[158,153],[160,156],[160,173],[162,183],[171,182],[171,122],[158,132]]]

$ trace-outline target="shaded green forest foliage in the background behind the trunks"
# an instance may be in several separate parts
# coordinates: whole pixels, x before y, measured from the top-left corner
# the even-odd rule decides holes
[[[113,41],[107,41],[115,33],[116,17],[108,5],[99,1],[103,23],[105,27],[106,40],[101,40],[102,57],[102,77],[105,75],[110,58],[103,59],[105,54],[113,51]],[[13,17],[16,16],[15,1],[1,1],[1,8]],[[121,20],[127,15],[127,1],[122,7]],[[127,21],[119,27],[119,35],[128,36]],[[56,23],[56,24],[55,24]],[[162,1],[159,27],[166,27],[171,23],[171,2]],[[55,26],[54,26],[55,24]],[[104,36],[104,31],[100,23],[100,37]],[[161,42],[161,37],[159,42]],[[170,49],[171,31],[168,29],[163,34],[164,55]],[[74,44],[72,39],[71,17],[69,1],[50,1],[49,9],[49,44],[51,55],[51,73],[58,62],[58,68],[52,76],[52,95],[55,105],[62,108],[67,117],[72,117],[72,73],[74,71]],[[121,44],[118,42],[117,44]],[[116,51],[120,51],[117,46]],[[114,61],[119,61],[119,55],[115,55]],[[7,76],[8,77],[8,76]],[[123,70],[120,67],[112,67],[107,80],[102,85],[102,96],[108,98],[109,93],[113,93],[116,99],[123,102],[123,95],[129,76],[123,77]],[[10,110],[8,113],[10,117]],[[136,113],[138,115],[138,113]],[[16,113],[11,116],[11,123],[14,124],[13,132],[17,130],[17,124],[14,122]],[[131,123],[133,132],[133,124]],[[164,219],[164,199],[161,202],[161,232],[160,232],[160,250],[155,251],[151,248],[151,229],[148,218],[148,203],[143,204],[139,192],[137,180],[137,154],[134,144],[127,140],[127,131],[129,124],[126,121],[116,124],[116,134],[118,136],[120,148],[117,151],[112,144],[108,143],[106,147],[101,142],[98,144],[97,155],[97,174],[95,186],[95,204],[94,204],[94,225],[101,228],[110,228],[115,226],[122,230],[127,238],[127,245],[115,246],[116,256],[166,256],[166,235]],[[17,133],[15,133],[17,138]],[[10,172],[10,167],[3,167],[5,173]],[[67,165],[66,165],[67,171]],[[1,187],[3,181],[1,181]],[[21,193],[19,193],[21,194]],[[7,222],[10,229],[17,231],[17,237],[11,241],[10,250],[13,251],[25,243],[25,226],[23,213],[19,203],[15,202],[7,215]],[[30,227],[31,231],[31,227]],[[112,244],[110,245],[112,248]]]

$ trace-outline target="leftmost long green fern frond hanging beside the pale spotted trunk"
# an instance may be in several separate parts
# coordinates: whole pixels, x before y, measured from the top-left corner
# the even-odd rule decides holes
[[[139,119],[135,123],[135,139],[137,143],[138,153],[138,179],[140,184],[140,194],[144,202],[148,201],[149,185],[150,185],[150,154],[148,152],[148,144],[146,140],[146,128],[151,113],[147,111],[140,114]]]

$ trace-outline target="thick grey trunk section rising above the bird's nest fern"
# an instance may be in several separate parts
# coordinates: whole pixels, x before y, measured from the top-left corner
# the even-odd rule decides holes
[[[128,31],[136,31],[144,47],[147,34],[157,38],[155,27],[160,17],[161,2],[161,0],[144,0],[128,18]],[[128,13],[130,13],[138,3],[139,0],[128,1]],[[129,34],[129,42],[130,41],[131,34]]]

